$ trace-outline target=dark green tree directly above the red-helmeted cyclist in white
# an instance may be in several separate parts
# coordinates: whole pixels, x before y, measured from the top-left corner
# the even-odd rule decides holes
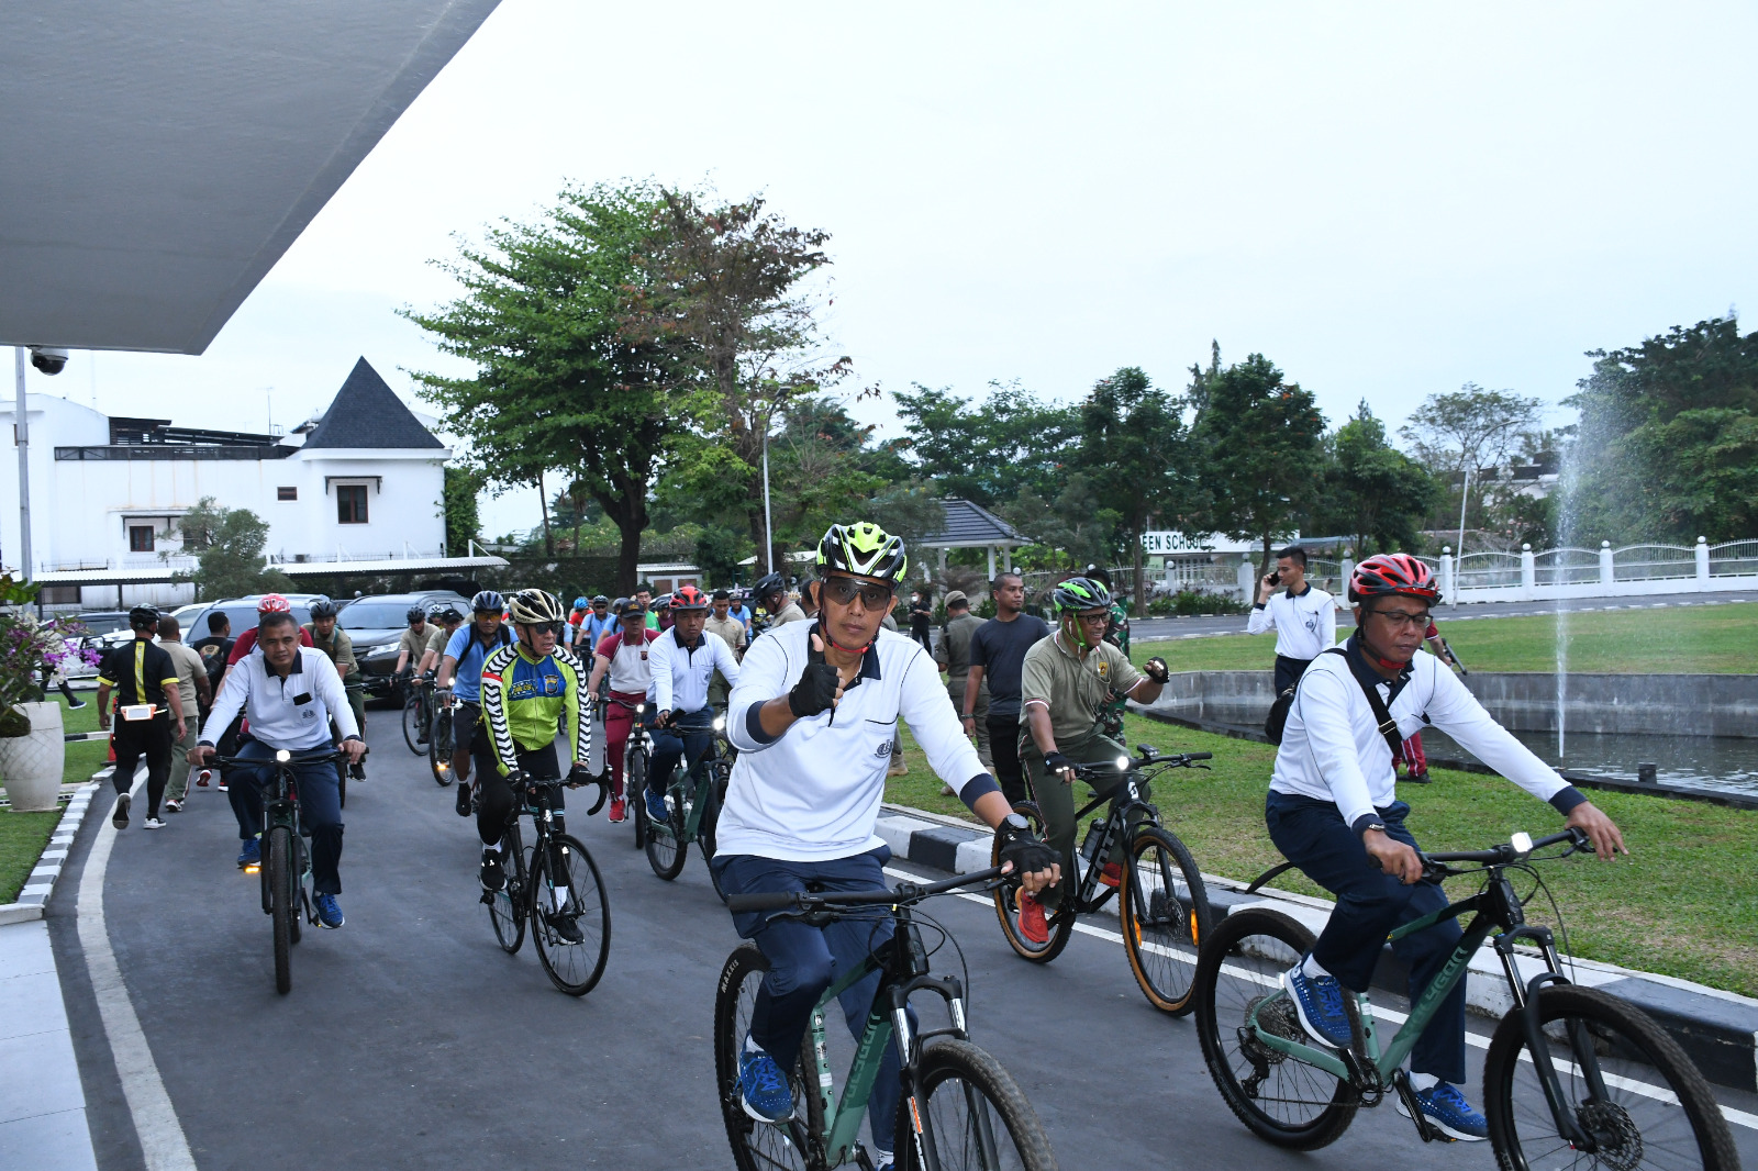
[[[1345,533],[1357,557],[1417,550],[1422,520],[1440,503],[1440,484],[1385,441],[1385,424],[1368,401],[1327,440],[1324,489],[1311,522],[1324,533]]]

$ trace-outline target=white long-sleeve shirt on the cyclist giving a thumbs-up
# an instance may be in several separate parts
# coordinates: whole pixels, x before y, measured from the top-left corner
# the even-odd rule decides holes
[[[816,631],[817,622],[775,626],[745,652],[726,710],[738,761],[716,826],[717,853],[826,862],[883,846],[874,826],[898,716],[965,804],[995,789],[946,702],[933,659],[888,629],[837,707],[796,719],[781,737],[765,735],[759,709],[800,682]]]

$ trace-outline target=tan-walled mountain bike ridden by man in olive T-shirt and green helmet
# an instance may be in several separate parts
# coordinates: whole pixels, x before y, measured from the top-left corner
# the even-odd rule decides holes
[[[1104,786],[1104,796],[1093,796],[1074,814],[1081,818],[1111,802],[1104,819],[1093,819],[1081,840],[1079,858],[1085,872],[1079,884],[1062,897],[1062,906],[1050,916],[1050,942],[1034,944],[1020,934],[1020,907],[1016,888],[995,890],[995,914],[1002,934],[1014,953],[1034,964],[1048,964],[1062,955],[1074,937],[1074,923],[1081,914],[1092,914],[1116,895],[1116,911],[1123,927],[1123,951],[1130,972],[1141,985],[1148,1004],[1183,1016],[1190,1011],[1190,986],[1195,972],[1197,949],[1213,923],[1208,888],[1202,872],[1178,835],[1160,823],[1160,809],[1151,804],[1150,781],[1173,768],[1208,768],[1201,761],[1211,753],[1180,753],[1160,756],[1151,746],[1137,744],[1136,758],[1118,756],[1115,761],[1076,765],[1074,775],[1095,791]],[[1118,782],[1122,774],[1122,782]],[[1113,788],[1115,786],[1115,788]],[[1013,807],[1044,832],[1042,818],[1034,802]],[[990,862],[1000,862],[1000,844]],[[1108,867],[1115,870],[1108,872]],[[1064,876],[1064,881],[1074,876]]]

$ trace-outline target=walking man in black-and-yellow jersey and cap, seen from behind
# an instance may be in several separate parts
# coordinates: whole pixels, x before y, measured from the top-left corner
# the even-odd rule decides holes
[[[165,796],[171,779],[171,746],[183,738],[188,723],[183,712],[183,695],[178,689],[178,668],[153,636],[158,633],[158,610],[134,607],[128,610],[128,628],[134,642],[116,647],[98,666],[98,728],[111,728],[111,691],[116,693],[120,716],[111,746],[116,749],[116,768],[111,784],[116,786],[116,811],[111,825],[118,830],[128,825],[128,805],[134,788],[134,768],[146,758],[146,828],[162,830],[158,802]],[[188,714],[190,717],[195,712]]]

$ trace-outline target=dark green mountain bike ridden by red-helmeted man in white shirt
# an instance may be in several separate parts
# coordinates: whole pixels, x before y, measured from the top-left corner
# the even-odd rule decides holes
[[[1565,846],[1561,853],[1535,856],[1558,844]],[[1515,833],[1491,849],[1424,855],[1426,881],[1478,874],[1482,884],[1470,898],[1391,934],[1403,939],[1473,913],[1447,965],[1410,1006],[1410,1018],[1385,1048],[1366,993],[1343,997],[1354,1034],[1347,1050],[1310,1037],[1282,990],[1282,972],[1311,951],[1313,934],[1268,907],[1229,914],[1202,941],[1195,988],[1202,1058],[1222,1099],[1269,1143],[1317,1150],[1334,1143],[1359,1108],[1378,1106],[1394,1094],[1422,1141],[1445,1141],[1417,1108],[1403,1062],[1440,1004],[1466,978],[1478,946],[1498,932],[1494,951],[1514,1007],[1496,1025],[1484,1058],[1484,1115],[1501,1167],[1739,1167],[1709,1083],[1679,1044],[1628,1000],[1572,985],[1551,928],[1526,921],[1524,904],[1545,891],[1563,923],[1533,863],[1591,849],[1584,832],[1565,830],[1536,842]],[[1512,870],[1535,879],[1526,898],[1514,890]],[[1253,888],[1278,872],[1280,867]],[[1561,930],[1566,946],[1566,927]],[[1535,948],[1544,969],[1522,978],[1517,944]]]

